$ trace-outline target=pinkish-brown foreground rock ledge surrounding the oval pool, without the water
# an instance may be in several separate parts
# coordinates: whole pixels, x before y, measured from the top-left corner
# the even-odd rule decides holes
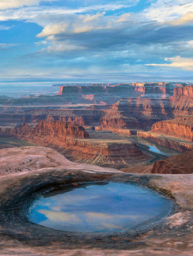
[[[0,153],[1,164],[4,163],[0,179],[1,255],[193,254],[192,174],[123,173],[72,163],[58,152],[44,147],[10,148]],[[169,216],[153,225],[112,234],[60,232],[27,220],[27,207],[42,189],[92,180],[135,182],[148,186],[172,198],[174,207]]]

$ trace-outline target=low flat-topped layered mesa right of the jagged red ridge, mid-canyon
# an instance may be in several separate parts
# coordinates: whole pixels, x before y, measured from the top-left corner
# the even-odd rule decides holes
[[[144,164],[151,157],[144,154],[135,143],[125,140],[72,140],[65,156],[71,161],[123,168]],[[63,152],[63,151],[61,151]]]

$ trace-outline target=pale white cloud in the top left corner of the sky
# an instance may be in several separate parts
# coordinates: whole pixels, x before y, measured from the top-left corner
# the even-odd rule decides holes
[[[0,10],[18,8],[22,6],[38,5],[43,1],[56,1],[56,0],[1,0]]]

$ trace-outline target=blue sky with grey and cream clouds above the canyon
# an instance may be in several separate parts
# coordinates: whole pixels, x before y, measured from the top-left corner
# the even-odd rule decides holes
[[[193,82],[192,0],[0,0],[0,81]]]

